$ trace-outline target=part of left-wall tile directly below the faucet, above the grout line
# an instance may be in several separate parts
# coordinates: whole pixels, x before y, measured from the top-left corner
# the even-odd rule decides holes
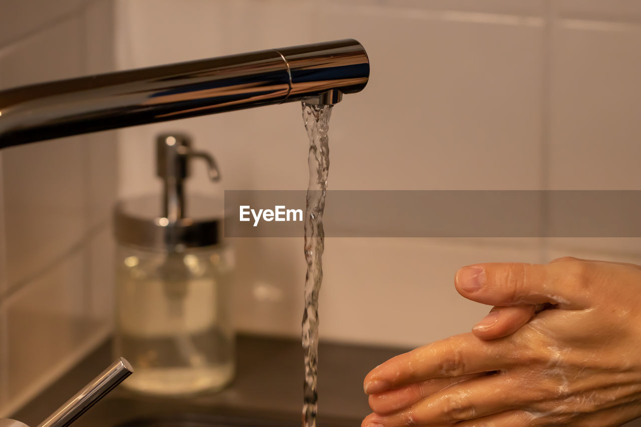
[[[8,289],[58,262],[83,238],[88,228],[86,162],[85,137],[4,153]]]

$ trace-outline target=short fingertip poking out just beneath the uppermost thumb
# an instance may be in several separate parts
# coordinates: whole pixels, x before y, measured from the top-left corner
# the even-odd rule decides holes
[[[507,337],[529,322],[534,315],[534,305],[494,307],[472,328],[472,333],[482,340]]]

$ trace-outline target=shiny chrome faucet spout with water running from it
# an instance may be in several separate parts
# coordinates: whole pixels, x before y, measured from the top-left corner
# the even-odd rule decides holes
[[[360,92],[369,60],[338,40],[40,83],[0,92],[0,149],[290,101]]]

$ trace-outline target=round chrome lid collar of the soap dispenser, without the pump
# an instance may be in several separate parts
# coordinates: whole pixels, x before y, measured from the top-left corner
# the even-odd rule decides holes
[[[174,222],[163,216],[159,196],[136,197],[119,202],[114,212],[118,242],[149,249],[182,251],[188,247],[222,243],[224,206],[208,197],[185,200],[187,217]]]

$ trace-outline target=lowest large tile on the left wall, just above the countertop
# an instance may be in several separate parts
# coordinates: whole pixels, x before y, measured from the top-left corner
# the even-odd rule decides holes
[[[79,344],[96,333],[87,316],[87,254],[68,256],[7,301],[8,392],[24,401],[52,368],[67,364]],[[46,351],[45,351],[46,349]]]

